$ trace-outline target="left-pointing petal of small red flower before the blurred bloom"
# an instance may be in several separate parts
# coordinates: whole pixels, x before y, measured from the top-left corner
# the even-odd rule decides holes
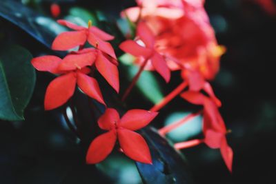
[[[135,57],[147,58],[152,54],[151,49],[144,48],[133,40],[124,41],[119,45],[119,48]]]

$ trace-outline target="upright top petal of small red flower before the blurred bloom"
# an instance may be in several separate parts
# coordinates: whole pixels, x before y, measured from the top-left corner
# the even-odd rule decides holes
[[[140,22],[137,26],[137,36],[146,44],[147,48],[153,48],[155,45],[155,37],[144,22]]]

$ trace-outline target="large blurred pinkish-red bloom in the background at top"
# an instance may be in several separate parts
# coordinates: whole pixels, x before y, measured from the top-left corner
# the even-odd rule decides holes
[[[203,1],[137,0],[137,4],[122,15],[147,23],[154,32],[157,52],[171,70],[192,69],[205,79],[215,77],[225,49],[217,45]]]

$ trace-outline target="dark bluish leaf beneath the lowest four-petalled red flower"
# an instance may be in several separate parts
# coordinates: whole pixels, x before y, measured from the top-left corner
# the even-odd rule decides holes
[[[152,155],[152,165],[137,162],[144,183],[190,184],[193,183],[184,158],[157,131],[141,130]]]

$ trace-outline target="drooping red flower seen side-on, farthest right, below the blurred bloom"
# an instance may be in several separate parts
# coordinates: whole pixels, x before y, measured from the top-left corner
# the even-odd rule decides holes
[[[224,120],[219,113],[217,107],[221,105],[220,101],[213,94],[210,85],[206,83],[206,92],[209,96],[205,96],[200,92],[188,91],[181,94],[181,97],[196,105],[203,105],[203,132],[204,132],[204,143],[213,149],[220,149],[221,156],[228,167],[228,170],[232,172],[233,163],[233,150],[228,145],[226,140],[227,130],[225,127]]]

